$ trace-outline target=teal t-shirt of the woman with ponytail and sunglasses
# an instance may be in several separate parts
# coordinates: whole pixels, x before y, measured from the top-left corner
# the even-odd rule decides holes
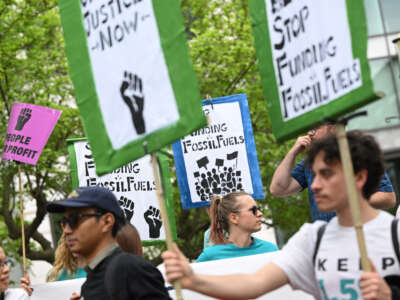
[[[235,246],[232,243],[212,245],[205,248],[196,262],[261,254],[278,250],[275,244],[253,237],[253,243],[244,248]]]

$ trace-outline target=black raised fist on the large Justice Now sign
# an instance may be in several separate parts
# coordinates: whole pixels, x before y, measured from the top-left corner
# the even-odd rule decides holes
[[[125,71],[120,92],[122,99],[126,105],[128,105],[131,112],[136,133],[145,133],[146,128],[143,119],[144,95],[142,79],[140,79],[136,74]]]

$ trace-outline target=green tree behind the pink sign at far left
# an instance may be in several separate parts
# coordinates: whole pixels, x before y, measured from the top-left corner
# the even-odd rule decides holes
[[[73,90],[56,1],[0,1],[1,145],[14,102],[63,111],[38,164],[21,165],[24,202],[34,201],[37,207],[33,220],[25,222],[27,257],[51,262],[54,249],[37,228],[44,219],[46,203],[70,191],[66,139],[82,134],[78,112],[71,108]],[[8,255],[18,258],[21,228],[16,163],[1,161],[0,176],[0,238]]]

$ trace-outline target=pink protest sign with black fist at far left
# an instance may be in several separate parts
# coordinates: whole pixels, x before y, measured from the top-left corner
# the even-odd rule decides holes
[[[60,115],[48,107],[14,103],[2,158],[35,165]]]

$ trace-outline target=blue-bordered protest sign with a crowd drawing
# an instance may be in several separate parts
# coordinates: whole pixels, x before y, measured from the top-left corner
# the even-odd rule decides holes
[[[205,100],[203,110],[210,124],[172,145],[183,208],[238,190],[263,199],[246,95]]]

